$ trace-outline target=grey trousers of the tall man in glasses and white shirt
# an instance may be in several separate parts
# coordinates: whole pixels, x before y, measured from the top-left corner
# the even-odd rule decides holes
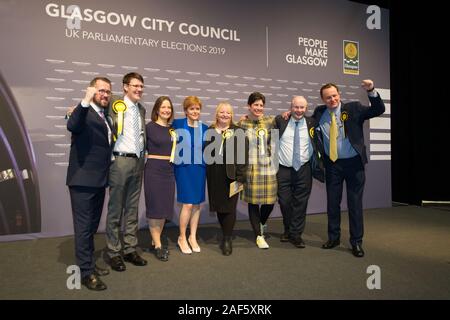
[[[106,245],[110,258],[136,251],[138,209],[144,158],[118,156],[109,170],[109,203],[106,217]],[[120,241],[122,223],[123,248]]]

